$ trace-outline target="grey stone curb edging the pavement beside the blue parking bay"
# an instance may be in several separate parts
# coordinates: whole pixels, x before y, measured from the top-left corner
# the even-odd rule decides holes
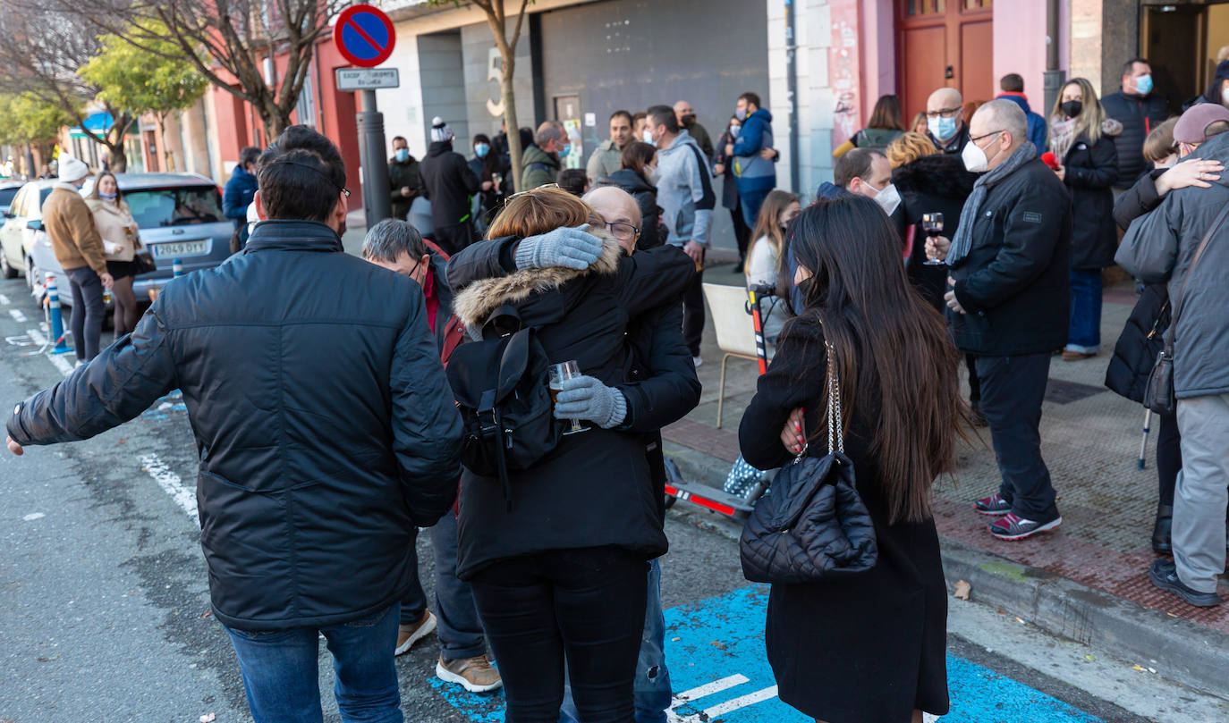
[[[685,479],[720,489],[730,464],[672,442],[665,453]],[[741,523],[681,502],[670,514],[737,540]],[[971,587],[970,599],[1165,678],[1229,698],[1229,635],[1170,617],[1160,610],[1091,589],[1052,572],[939,536],[949,589]]]

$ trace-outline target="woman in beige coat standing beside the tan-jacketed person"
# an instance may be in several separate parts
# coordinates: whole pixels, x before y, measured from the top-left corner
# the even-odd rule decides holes
[[[116,339],[136,328],[136,297],[133,280],[140,271],[135,260],[141,242],[136,221],[119,194],[119,184],[109,172],[98,176],[85,199],[93,212],[93,223],[107,252],[107,273],[114,279],[111,297],[116,302]]]

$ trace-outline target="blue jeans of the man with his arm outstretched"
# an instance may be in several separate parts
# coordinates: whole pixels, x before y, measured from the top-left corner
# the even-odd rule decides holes
[[[403,723],[393,649],[397,606],[329,627],[248,631],[226,627],[256,723],[321,723],[320,636],[333,653],[333,695],[345,723]]]

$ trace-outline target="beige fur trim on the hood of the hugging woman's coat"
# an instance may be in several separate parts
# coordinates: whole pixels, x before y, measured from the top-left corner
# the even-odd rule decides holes
[[[568,281],[589,274],[613,274],[624,255],[623,247],[605,228],[591,228],[589,233],[602,239],[602,255],[587,269],[520,269],[498,279],[482,279],[457,292],[452,301],[452,313],[466,329],[478,330],[500,304],[519,303],[533,293],[554,291]]]

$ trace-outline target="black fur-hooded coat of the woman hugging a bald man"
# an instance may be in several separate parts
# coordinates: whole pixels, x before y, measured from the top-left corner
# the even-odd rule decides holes
[[[479,328],[495,306],[514,303],[526,324],[538,327],[548,358],[576,360],[584,374],[613,387],[629,381],[629,318],[678,303],[694,274],[681,249],[659,247],[626,258],[612,238],[596,265],[602,271],[516,271],[515,263],[509,264],[515,243],[481,242],[451,259],[457,317],[467,328]],[[634,394],[626,398],[635,404]],[[634,420],[635,412],[630,415]],[[661,489],[645,458],[643,435],[587,426],[563,437],[533,469],[511,475],[511,509],[497,480],[462,473],[458,577],[468,579],[499,560],[543,550],[613,545],[645,559],[666,551]]]

